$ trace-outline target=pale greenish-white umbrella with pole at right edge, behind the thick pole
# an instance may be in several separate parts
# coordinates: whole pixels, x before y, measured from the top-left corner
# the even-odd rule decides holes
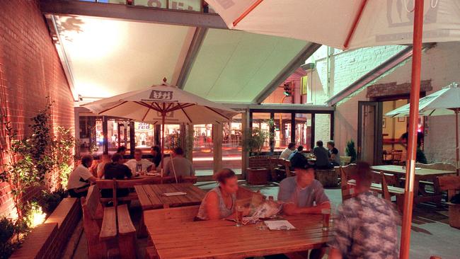
[[[452,83],[435,93],[420,98],[420,116],[455,115],[455,139],[456,139],[456,172],[459,175],[459,111],[460,111],[460,87]],[[410,105],[406,104],[386,113],[389,117],[408,117]]]

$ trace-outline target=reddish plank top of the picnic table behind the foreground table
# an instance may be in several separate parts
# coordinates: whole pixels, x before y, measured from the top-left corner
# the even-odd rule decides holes
[[[160,185],[134,186],[142,210],[159,209],[163,207],[180,207],[200,205],[206,192],[192,183],[168,183]],[[186,195],[165,196],[166,192],[186,192]]]

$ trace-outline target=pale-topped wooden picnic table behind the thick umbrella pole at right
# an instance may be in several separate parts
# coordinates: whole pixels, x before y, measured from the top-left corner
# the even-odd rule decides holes
[[[403,166],[394,166],[394,165],[384,165],[384,166],[372,166],[372,170],[384,172],[384,173],[392,173],[398,177],[398,179],[406,177],[406,169],[403,169]],[[435,180],[438,176],[442,175],[452,175],[455,174],[456,171],[444,171],[444,170],[436,170],[436,169],[429,169],[429,168],[417,168],[415,170],[415,178],[414,178],[414,202],[437,202],[438,204],[441,203],[441,191],[439,190],[439,186],[433,185],[434,192],[426,192],[425,191],[425,184],[422,183],[422,187],[420,188],[420,182],[423,181],[430,181],[431,183],[435,183]]]

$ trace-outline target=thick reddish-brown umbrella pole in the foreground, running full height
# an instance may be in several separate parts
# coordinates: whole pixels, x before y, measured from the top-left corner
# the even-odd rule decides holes
[[[418,99],[420,98],[420,67],[422,63],[422,28],[423,0],[415,0],[408,157],[406,160],[406,190],[404,195],[403,226],[401,228],[400,259],[408,259],[410,249],[410,226],[412,225],[415,160],[417,156]]]

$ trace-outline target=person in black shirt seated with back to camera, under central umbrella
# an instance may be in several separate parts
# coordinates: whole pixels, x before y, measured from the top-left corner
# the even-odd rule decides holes
[[[104,178],[105,180],[117,179],[123,180],[125,178],[131,178],[132,172],[129,167],[123,164],[123,157],[120,154],[113,154],[112,163],[107,163],[104,167]],[[100,192],[102,197],[112,197],[112,190],[104,189]],[[130,189],[120,188],[117,189],[117,197],[124,197],[130,194]]]

